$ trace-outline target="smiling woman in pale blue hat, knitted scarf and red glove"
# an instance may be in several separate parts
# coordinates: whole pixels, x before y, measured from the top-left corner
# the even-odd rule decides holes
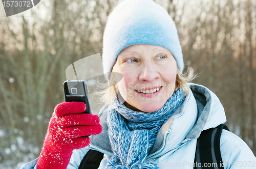
[[[152,0],[118,5],[105,27],[102,58],[109,83],[117,81],[116,72],[123,78],[103,92],[109,103],[100,120],[81,114],[83,103],[60,103],[39,157],[22,168],[78,168],[89,149],[104,153],[99,168],[193,168],[201,131],[226,117],[214,93],[187,83],[193,70],[182,74],[181,46],[168,13]],[[91,143],[83,135],[92,135]],[[220,150],[225,168],[234,161],[250,161],[252,168],[256,161],[243,140],[226,130]]]

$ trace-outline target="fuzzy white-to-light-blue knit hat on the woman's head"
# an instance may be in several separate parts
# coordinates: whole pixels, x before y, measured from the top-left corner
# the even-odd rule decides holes
[[[180,72],[183,55],[173,19],[152,0],[126,0],[109,15],[103,35],[102,63],[108,79],[118,54],[127,46],[162,46],[174,56]]]

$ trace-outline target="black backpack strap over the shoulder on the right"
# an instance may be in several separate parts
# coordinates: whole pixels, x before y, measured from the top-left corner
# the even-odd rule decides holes
[[[229,131],[225,124],[201,132],[197,139],[194,169],[212,168],[224,169],[220,151],[222,130]]]

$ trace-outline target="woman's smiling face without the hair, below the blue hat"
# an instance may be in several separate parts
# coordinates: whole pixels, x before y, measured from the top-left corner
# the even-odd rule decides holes
[[[139,44],[123,49],[113,72],[123,75],[117,87],[125,96],[125,106],[133,110],[157,111],[175,90],[177,64],[161,46]]]

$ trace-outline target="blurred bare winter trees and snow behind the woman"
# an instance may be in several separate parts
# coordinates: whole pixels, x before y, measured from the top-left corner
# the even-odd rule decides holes
[[[195,83],[222,102],[229,129],[256,154],[256,1],[156,0],[177,25]],[[117,0],[41,1],[10,17],[0,3],[0,168],[38,157],[65,70],[102,53],[107,16]],[[95,111],[102,104],[91,103]]]

